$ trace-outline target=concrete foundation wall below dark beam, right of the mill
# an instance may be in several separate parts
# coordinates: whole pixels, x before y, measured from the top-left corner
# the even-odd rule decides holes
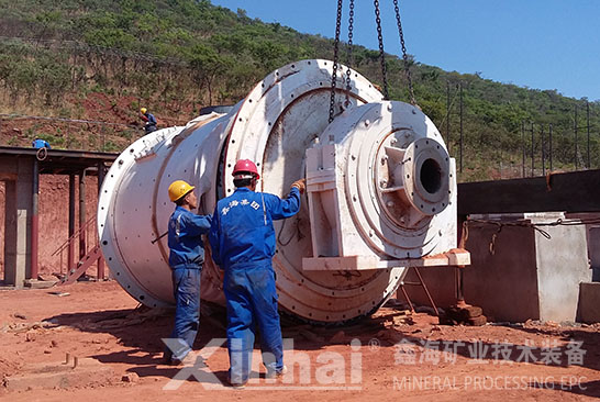
[[[466,301],[484,308],[493,321],[575,321],[579,282],[591,279],[585,227],[544,227],[551,239],[532,227],[498,228],[469,225]],[[438,306],[456,302],[454,268],[422,268],[421,273]],[[407,281],[414,280],[409,273]],[[416,303],[429,304],[418,287],[407,291]]]

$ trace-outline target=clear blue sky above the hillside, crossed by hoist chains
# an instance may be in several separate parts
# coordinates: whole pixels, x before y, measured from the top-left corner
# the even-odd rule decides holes
[[[600,100],[600,0],[399,0],[408,52],[449,71]],[[211,0],[251,18],[333,37],[336,0]],[[342,37],[347,38],[344,0]],[[385,49],[400,54],[391,0]],[[355,0],[354,42],[377,48],[374,5]]]

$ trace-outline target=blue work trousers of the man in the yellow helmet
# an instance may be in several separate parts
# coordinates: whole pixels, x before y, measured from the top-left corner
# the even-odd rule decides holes
[[[193,346],[200,325],[200,273],[198,268],[173,270],[175,295],[175,327],[171,338],[178,339],[176,350],[167,353],[171,359],[182,360]]]

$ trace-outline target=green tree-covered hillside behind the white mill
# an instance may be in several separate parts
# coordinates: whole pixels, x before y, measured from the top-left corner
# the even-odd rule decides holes
[[[137,124],[140,105],[155,112],[163,125],[182,123],[200,107],[238,101],[256,81],[287,63],[333,57],[332,40],[253,20],[243,10],[233,13],[207,0],[0,0],[0,113],[122,124],[65,126],[5,118],[0,121],[2,145],[26,144],[40,135],[57,146],[118,150],[138,135],[127,125]],[[378,52],[356,47],[354,57],[353,67],[380,83]],[[401,60],[389,56],[387,63],[390,98],[407,101]],[[585,100],[411,63],[416,100],[444,135],[449,82],[451,153],[455,157],[457,85],[463,85],[462,180],[520,175],[523,121],[535,123],[537,167],[540,130],[544,127],[547,135],[552,123],[554,167],[574,169],[576,105],[580,127],[577,163],[579,167],[586,164]],[[591,167],[597,168],[600,102],[589,107]],[[531,134],[526,138],[530,149]]]

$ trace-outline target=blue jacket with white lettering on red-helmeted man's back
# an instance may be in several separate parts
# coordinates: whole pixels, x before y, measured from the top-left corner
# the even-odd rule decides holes
[[[273,221],[300,210],[300,191],[279,197],[254,192],[245,187],[216,203],[209,241],[212,259],[223,269],[241,264],[269,260],[275,255]]]

